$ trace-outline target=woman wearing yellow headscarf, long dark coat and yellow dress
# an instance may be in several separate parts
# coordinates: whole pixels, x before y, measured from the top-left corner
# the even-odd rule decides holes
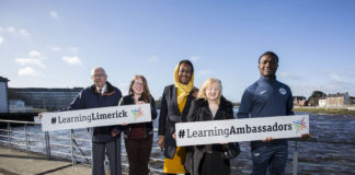
[[[187,174],[184,162],[185,148],[176,147],[175,124],[185,122],[191,102],[197,95],[194,88],[194,67],[190,60],[182,60],[174,71],[175,83],[165,86],[159,116],[158,144],[164,150],[164,173]]]

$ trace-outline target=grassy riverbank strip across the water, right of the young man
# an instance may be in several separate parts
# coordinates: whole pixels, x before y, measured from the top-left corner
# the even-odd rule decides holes
[[[331,114],[331,115],[355,115],[355,110],[347,108],[325,108],[325,107],[299,107],[295,106],[294,112],[306,112],[312,114]]]

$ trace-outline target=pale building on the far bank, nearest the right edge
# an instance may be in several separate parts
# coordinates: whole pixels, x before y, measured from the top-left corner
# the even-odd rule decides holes
[[[351,105],[354,97],[348,93],[329,94],[327,96],[327,107],[343,107],[344,105]]]

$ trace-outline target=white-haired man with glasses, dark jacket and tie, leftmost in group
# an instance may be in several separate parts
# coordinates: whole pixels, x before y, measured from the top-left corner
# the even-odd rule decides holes
[[[93,85],[82,90],[70,104],[69,109],[87,109],[117,106],[121,91],[108,83],[107,74],[101,67],[91,71]],[[121,130],[119,126],[89,128],[92,141],[92,174],[104,175],[105,150],[110,161],[111,175],[121,175]]]

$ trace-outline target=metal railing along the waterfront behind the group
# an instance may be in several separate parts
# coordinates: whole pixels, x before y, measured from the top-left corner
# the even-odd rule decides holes
[[[18,121],[18,120],[3,120],[3,119],[0,119],[0,122],[5,122],[7,124],[7,129],[0,129],[0,131],[3,131],[5,132],[7,135],[1,135],[0,133],[0,142],[4,143],[5,145],[9,147],[9,149],[12,149],[14,148],[13,145],[18,145],[18,147],[24,147],[25,148],[25,151],[26,153],[28,154],[30,152],[34,152],[32,151],[33,149],[44,149],[45,150],[45,154],[46,154],[46,158],[47,159],[51,159],[51,153],[55,153],[55,154],[58,154],[58,155],[66,155],[66,156],[70,156],[70,160],[71,160],[71,164],[75,166],[77,165],[77,159],[82,159],[84,160],[84,162],[87,164],[91,164],[91,155],[88,156],[85,155],[84,151],[88,151],[88,152],[91,152],[91,148],[84,148],[84,147],[80,147],[78,144],[77,141],[82,141],[82,142],[89,142],[89,144],[91,145],[91,140],[89,139],[82,139],[82,138],[76,138],[75,137],[75,131],[71,129],[70,130],[70,137],[61,137],[61,136],[49,136],[49,132],[48,131],[45,131],[45,132],[30,132],[28,131],[28,125],[41,125],[38,122],[32,122],[32,121]],[[22,131],[16,131],[16,130],[12,130],[12,127],[11,127],[11,124],[12,125],[23,125],[24,126],[24,130]],[[154,129],[154,132],[157,132],[157,129]],[[13,136],[13,133],[18,133],[19,136]],[[24,135],[24,137],[21,137],[21,135]],[[45,139],[45,147],[35,147],[35,145],[32,145],[31,142],[36,142],[36,140],[34,139],[31,139],[31,136],[39,136],[39,137],[44,137]],[[3,139],[1,138],[7,138],[7,141],[4,141]],[[50,138],[51,139],[62,139],[62,140],[68,140],[70,139],[70,144],[61,144],[61,143],[50,143]],[[22,142],[16,142],[16,140],[20,140]],[[295,140],[294,140],[295,141]],[[302,141],[302,140],[300,140]],[[336,140],[332,140],[332,141],[329,141],[329,140],[323,140],[323,139],[320,139],[320,138],[310,138],[306,141],[309,141],[309,142],[323,142],[323,143],[346,143],[346,144],[355,144],[354,142],[352,141],[348,141],[348,142],[344,142],[344,141],[336,141]],[[293,175],[297,175],[297,167],[298,167],[298,141],[295,141],[295,150],[294,150],[294,155],[293,155],[293,162],[291,162],[291,167],[293,167]],[[123,144],[124,145],[124,144]],[[51,150],[53,147],[59,147],[59,148],[66,148],[66,149],[70,149],[70,153],[67,153],[67,152],[62,152],[62,151],[55,151],[55,150]],[[158,147],[153,147],[152,148],[153,150],[160,150],[160,148]],[[77,151],[79,151],[80,154],[77,154]],[[36,152],[37,153],[37,152]],[[123,156],[127,156],[126,153],[123,153],[122,152],[122,155]],[[157,159],[157,158],[150,158],[150,161],[153,161],[153,162],[163,162],[164,160],[163,159]],[[105,167],[106,170],[108,168],[107,166],[107,159],[105,160]],[[128,164],[126,163],[122,163],[122,165],[124,165],[126,168],[128,167]],[[153,168],[153,167],[149,167],[151,172],[156,172],[156,173],[163,173],[162,170],[157,170],[157,168]],[[231,167],[232,170],[237,168],[236,166],[232,166]]]

